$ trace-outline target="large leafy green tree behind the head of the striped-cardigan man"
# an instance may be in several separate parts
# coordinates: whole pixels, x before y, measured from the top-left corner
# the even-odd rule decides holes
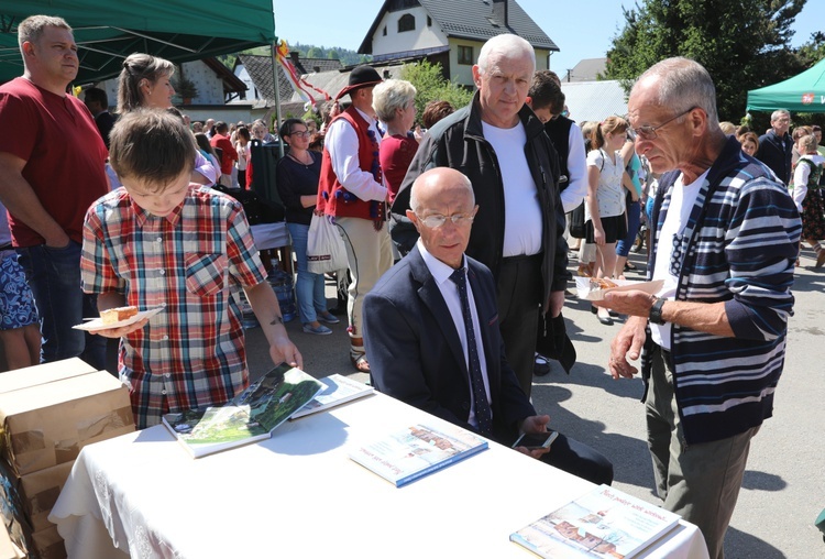
[[[607,52],[603,77],[626,90],[670,56],[702,64],[716,85],[721,120],[738,121],[748,89],[798,74],[791,25],[806,0],[642,0],[624,10],[625,28]]]

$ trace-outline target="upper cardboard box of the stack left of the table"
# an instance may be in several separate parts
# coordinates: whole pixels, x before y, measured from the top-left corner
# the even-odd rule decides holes
[[[118,379],[106,371],[56,376],[0,392],[0,458],[19,476],[72,462],[86,445],[134,431],[129,391]]]

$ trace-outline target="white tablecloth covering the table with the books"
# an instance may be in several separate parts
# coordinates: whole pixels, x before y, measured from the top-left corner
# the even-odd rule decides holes
[[[346,457],[422,420],[441,421],[375,394],[197,460],[152,427],[84,448],[50,520],[79,559],[527,559],[509,534],[593,486],[494,442],[400,489]],[[639,557],[707,551],[682,523]]]

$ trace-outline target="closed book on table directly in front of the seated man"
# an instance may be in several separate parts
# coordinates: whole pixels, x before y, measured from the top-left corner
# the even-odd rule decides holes
[[[350,458],[400,487],[487,448],[487,441],[462,429],[413,425],[350,450]]]

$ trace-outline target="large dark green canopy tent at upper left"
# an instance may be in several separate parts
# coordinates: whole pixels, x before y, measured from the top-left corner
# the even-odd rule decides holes
[[[117,76],[132,53],[178,64],[276,40],[272,0],[9,0],[0,7],[0,83],[23,74],[16,30],[33,14],[59,15],[74,29],[76,84]]]

